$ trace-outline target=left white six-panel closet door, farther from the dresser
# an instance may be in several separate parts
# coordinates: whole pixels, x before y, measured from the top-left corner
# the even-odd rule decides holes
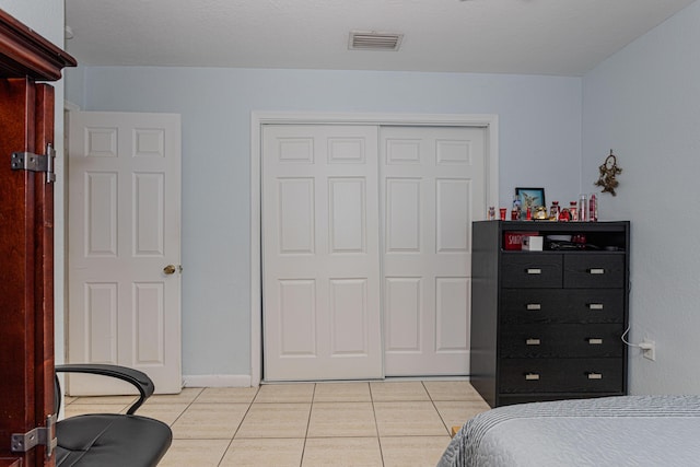
[[[377,128],[265,126],[267,381],[382,372]]]

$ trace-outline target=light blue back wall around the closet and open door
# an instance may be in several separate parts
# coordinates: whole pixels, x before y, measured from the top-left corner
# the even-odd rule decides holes
[[[253,110],[498,114],[500,198],[580,187],[581,79],[458,73],[88,67],[68,98],[88,110],[183,121],[183,372],[250,374]],[[69,77],[73,80],[73,75]],[[257,297],[255,297],[257,300]]]

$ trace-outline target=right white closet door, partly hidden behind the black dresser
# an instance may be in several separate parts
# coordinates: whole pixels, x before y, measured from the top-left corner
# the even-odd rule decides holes
[[[382,127],[386,376],[468,374],[470,235],[486,209],[485,135]]]

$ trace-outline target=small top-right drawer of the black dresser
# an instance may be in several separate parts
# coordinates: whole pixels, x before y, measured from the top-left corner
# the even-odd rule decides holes
[[[623,254],[570,254],[563,259],[564,288],[625,288]]]

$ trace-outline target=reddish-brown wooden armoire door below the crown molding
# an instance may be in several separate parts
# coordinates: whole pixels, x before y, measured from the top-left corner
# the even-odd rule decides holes
[[[54,191],[46,174],[11,168],[13,152],[45,153],[54,89],[0,80],[0,457],[54,465],[43,447],[11,453],[13,433],[54,413]]]

